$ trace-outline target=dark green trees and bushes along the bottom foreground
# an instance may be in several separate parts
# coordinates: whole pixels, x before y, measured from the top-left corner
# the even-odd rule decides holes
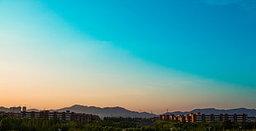
[[[59,119],[26,119],[0,115],[0,131],[256,131],[255,122],[197,122],[158,120],[154,126],[137,127],[133,121],[61,121]]]

